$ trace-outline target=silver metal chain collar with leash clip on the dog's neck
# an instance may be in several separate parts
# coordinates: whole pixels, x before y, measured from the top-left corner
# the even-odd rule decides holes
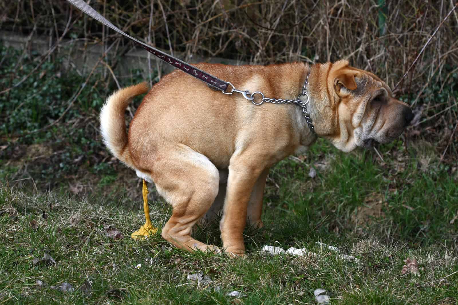
[[[302,87],[302,93],[300,93],[295,100],[269,99],[267,97],[264,97],[264,94],[262,94],[262,92],[259,92],[259,91],[251,93],[248,90],[242,91],[242,90],[235,89],[234,85],[229,83],[229,82],[228,82],[229,85],[232,86],[231,91],[230,92],[224,92],[223,91],[223,93],[224,94],[229,94],[229,95],[232,95],[234,92],[241,93],[245,99],[251,100],[251,103],[253,103],[254,105],[261,105],[264,102],[272,103],[272,104],[295,104],[295,105],[299,105],[300,107],[302,107],[302,112],[304,113],[304,117],[305,117],[305,121],[307,122],[307,125],[309,126],[310,130],[313,133],[315,133],[315,128],[313,127],[312,119],[310,118],[309,112],[307,111],[307,104],[310,101],[310,96],[307,93],[307,84],[309,83],[309,75],[310,75],[310,72],[307,74],[307,77],[305,78],[304,87]],[[256,94],[261,95],[261,100],[259,102],[255,101],[255,95]],[[305,100],[305,102],[300,100],[300,98],[302,96],[306,96],[307,97],[307,100]]]

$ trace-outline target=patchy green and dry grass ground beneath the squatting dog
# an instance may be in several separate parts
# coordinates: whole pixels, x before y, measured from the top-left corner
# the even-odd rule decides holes
[[[380,151],[384,162],[373,151],[344,154],[319,141],[305,156],[279,163],[267,181],[266,226],[246,229],[241,259],[182,252],[159,233],[132,240],[144,217],[125,198],[26,195],[2,185],[0,302],[316,304],[313,291],[323,288],[331,304],[458,304],[456,166],[441,165],[427,142],[406,149],[399,140]],[[150,198],[160,228],[170,210],[154,189]],[[118,238],[110,237],[114,229]],[[217,223],[194,236],[220,244]],[[316,242],[359,261],[338,259]],[[317,255],[270,256],[263,245]],[[407,258],[417,260],[420,276],[402,273]],[[208,281],[188,280],[199,273]],[[50,288],[62,283],[75,290]]]

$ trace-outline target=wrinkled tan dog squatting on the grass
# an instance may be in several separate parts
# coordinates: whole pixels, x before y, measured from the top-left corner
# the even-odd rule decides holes
[[[307,107],[316,134],[297,105],[253,105],[240,94],[213,91],[175,70],[144,97],[127,135],[125,108],[148,87],[138,84],[114,92],[100,114],[104,142],[140,178],[154,182],[172,205],[162,236],[186,250],[219,252],[191,233],[207,211],[212,217],[209,214],[222,207],[223,249],[243,255],[246,222],[262,226],[262,195],[271,166],[303,151],[317,137],[327,138],[344,152],[370,147],[372,142],[387,143],[412,119],[409,105],[394,99],[387,84],[345,60],[313,66],[201,63],[196,67],[237,89],[282,99],[295,99],[310,72]]]

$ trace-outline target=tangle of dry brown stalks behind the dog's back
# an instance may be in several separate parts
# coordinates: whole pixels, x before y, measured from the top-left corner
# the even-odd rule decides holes
[[[435,132],[446,129],[441,149],[444,153],[456,151],[456,96],[439,100],[436,95],[458,79],[458,10],[431,39],[455,1],[394,0],[386,1],[384,8],[379,2],[96,0],[90,5],[132,36],[170,53],[184,52],[185,60],[191,62],[196,54],[252,64],[346,58],[352,65],[380,75],[392,88],[414,64],[395,94],[414,107],[424,104],[417,124],[426,123],[423,130],[425,126]],[[114,47],[117,54],[133,47],[64,0],[3,1],[0,9],[1,30],[32,37],[47,35],[50,53],[59,52],[59,47],[52,46],[62,35],[87,45]],[[118,60],[106,58],[102,62],[115,68]],[[107,80],[116,81],[112,71],[105,72]]]

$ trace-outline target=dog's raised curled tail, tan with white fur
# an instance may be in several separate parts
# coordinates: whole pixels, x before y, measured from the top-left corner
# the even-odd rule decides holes
[[[146,83],[136,84],[114,91],[100,110],[100,131],[106,147],[120,161],[133,167],[129,146],[127,145],[127,131],[124,113],[127,105],[136,95],[147,93]]]

